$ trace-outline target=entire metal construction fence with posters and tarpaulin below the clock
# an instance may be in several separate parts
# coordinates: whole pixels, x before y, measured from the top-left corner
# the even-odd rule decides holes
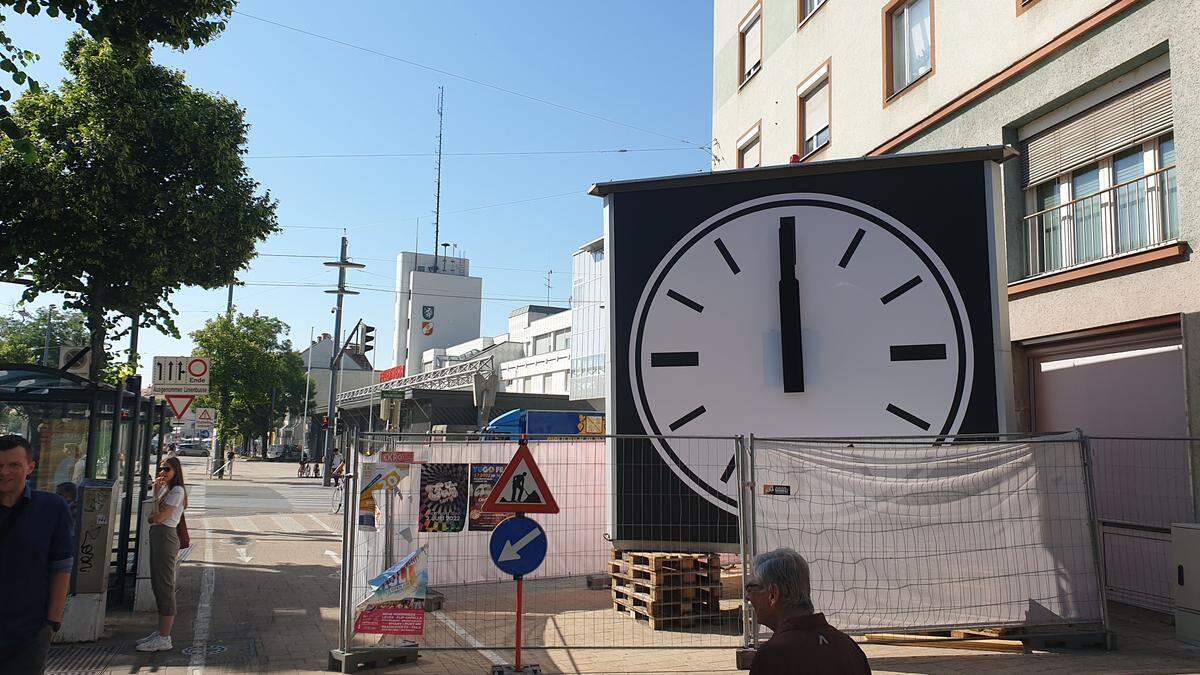
[[[727,543],[697,543],[694,528],[672,532],[662,514],[650,513],[673,504],[666,518],[680,524],[713,513],[682,482],[650,478],[665,466],[658,441],[666,438],[696,474],[734,477]],[[1190,520],[1190,464],[1180,464],[1186,443],[1122,441],[1088,443],[1076,434],[529,441],[560,510],[532,516],[546,532],[548,555],[523,579],[521,641],[527,649],[752,646],[761,638],[743,602],[744,572],[756,552],[778,546],[809,558],[815,605],[851,633],[1106,626],[1109,591],[1117,599],[1121,592],[1154,596],[1166,583],[1165,574],[1150,581],[1165,549],[1129,548],[1135,544],[1114,539],[1112,524]],[[353,446],[344,647],[406,639],[354,623],[374,591],[371,580],[420,551],[431,592],[414,603],[424,604],[412,638],[419,649],[514,649],[516,584],[488,554],[491,532],[506,514],[480,506],[517,443],[379,432],[359,434]],[[1170,459],[1147,467],[1147,448]],[[400,461],[391,476],[378,471],[384,456]],[[710,458],[709,465],[697,458]],[[379,480],[385,488],[365,490]],[[1153,506],[1164,489],[1169,504]],[[655,544],[622,550],[628,542],[614,532],[630,522],[653,524]]]

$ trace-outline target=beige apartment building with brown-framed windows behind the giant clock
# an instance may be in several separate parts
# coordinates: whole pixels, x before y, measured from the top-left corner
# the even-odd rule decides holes
[[[1012,145],[1015,430],[1200,436],[1200,2],[714,7],[714,169]],[[1200,516],[1200,444],[1102,446],[1110,597],[1170,607],[1168,526]]]

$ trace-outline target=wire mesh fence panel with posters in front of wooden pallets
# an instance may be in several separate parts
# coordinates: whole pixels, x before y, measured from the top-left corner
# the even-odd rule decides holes
[[[424,549],[428,589],[440,596],[442,608],[425,615],[424,635],[414,638],[420,649],[512,649],[516,584],[488,556],[491,531],[506,514],[482,513],[479,506],[517,443],[440,435],[430,438],[362,436],[362,449],[371,455],[410,452],[413,464],[396,488],[388,490],[374,530],[355,528],[352,599],[361,602],[371,592],[368,579]],[[736,449],[734,438],[672,437],[671,442],[688,446],[695,456],[710,455],[714,462],[720,458],[722,467]],[[560,512],[530,514],[546,531],[548,550],[542,566],[523,580],[526,649],[725,649],[744,644],[740,577],[726,574],[728,597],[722,601],[720,556],[695,556],[690,571],[676,571],[671,565],[655,568],[650,558],[634,563],[613,560],[608,458],[620,449],[626,458],[644,456],[647,467],[658,466],[661,459],[649,438],[581,437],[529,441],[528,446]],[[356,473],[370,474],[370,461],[366,458],[364,471]],[[647,491],[647,500],[661,496],[661,491]],[[685,519],[688,514],[679,515]],[[670,548],[708,552],[689,549],[684,542]],[[739,558],[733,554],[724,560],[733,563]],[[612,571],[625,579],[611,577]],[[596,587],[595,580],[589,586],[592,575],[619,586]],[[354,635],[358,647],[394,640]]]

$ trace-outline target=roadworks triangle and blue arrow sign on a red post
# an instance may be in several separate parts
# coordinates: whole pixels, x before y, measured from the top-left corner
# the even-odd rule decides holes
[[[558,513],[558,503],[523,438],[516,455],[504,467],[492,494],[484,502],[482,510],[515,514],[496,526],[488,549],[496,567],[511,574],[517,583],[514,667],[517,673],[522,673],[523,577],[541,565],[547,548],[546,532],[533,519],[526,518],[526,514]],[[492,669],[492,673],[505,671],[504,667]]]

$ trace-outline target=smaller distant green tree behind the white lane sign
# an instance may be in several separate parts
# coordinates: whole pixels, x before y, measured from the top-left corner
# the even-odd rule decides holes
[[[208,357],[211,364],[209,394],[198,405],[217,408],[223,441],[262,435],[264,458],[268,431],[304,407],[307,375],[287,331],[282,321],[254,312],[210,319],[191,334],[193,356]]]

